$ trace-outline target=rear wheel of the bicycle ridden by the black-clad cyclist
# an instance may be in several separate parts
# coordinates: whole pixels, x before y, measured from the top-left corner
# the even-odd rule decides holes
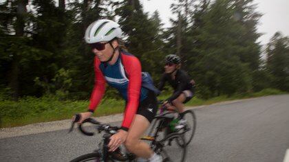
[[[186,119],[186,125],[184,126],[184,128],[182,128],[181,130],[179,130],[179,133],[183,133],[186,129],[189,129],[188,131],[184,132],[184,141],[186,146],[189,145],[189,143],[191,142],[191,140],[193,139],[193,136],[195,135],[195,128],[197,126],[197,119],[195,117],[195,113],[193,112],[193,110],[188,110],[188,111],[184,111],[184,118]],[[179,145],[181,143],[178,143]]]

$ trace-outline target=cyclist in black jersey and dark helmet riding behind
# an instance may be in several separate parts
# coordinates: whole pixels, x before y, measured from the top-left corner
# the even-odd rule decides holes
[[[169,54],[164,58],[164,73],[160,79],[158,89],[162,91],[165,82],[173,87],[173,95],[164,102],[167,108],[177,108],[179,119],[182,119],[184,113],[184,104],[189,102],[195,91],[195,81],[191,80],[188,74],[181,70],[180,56]],[[180,122],[184,122],[180,120]]]

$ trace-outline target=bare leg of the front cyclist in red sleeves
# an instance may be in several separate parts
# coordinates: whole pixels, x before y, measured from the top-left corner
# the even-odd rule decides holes
[[[149,128],[149,121],[147,118],[137,114],[133,119],[131,128],[129,128],[127,140],[125,141],[125,146],[129,152],[145,159],[149,159],[153,155],[153,150],[151,150],[149,145],[140,140],[140,137],[147,128]]]

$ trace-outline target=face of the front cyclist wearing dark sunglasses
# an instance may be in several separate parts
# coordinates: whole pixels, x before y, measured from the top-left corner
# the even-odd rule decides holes
[[[117,41],[114,40],[111,44],[116,48]],[[92,47],[92,52],[99,58],[101,62],[109,60],[114,49],[109,45],[109,42],[100,42],[89,44]]]

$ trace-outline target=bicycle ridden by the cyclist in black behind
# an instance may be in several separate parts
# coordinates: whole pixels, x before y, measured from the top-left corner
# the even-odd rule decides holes
[[[163,101],[162,100],[158,101],[158,104],[162,105]],[[164,120],[158,117],[163,115],[170,117],[169,120]],[[165,137],[166,135],[169,135],[171,132],[178,132],[180,134],[184,134],[185,145],[186,146],[189,145],[189,143],[193,139],[193,136],[195,135],[197,119],[195,117],[195,113],[193,112],[193,110],[184,111],[184,116],[182,119],[186,121],[186,123],[182,124],[184,127],[179,128],[177,130],[172,130],[173,127],[175,127],[178,124],[178,112],[175,109],[169,109],[166,106],[161,106],[160,114],[155,117],[155,119],[151,124],[152,126],[151,129],[149,130],[148,137],[153,137],[153,130],[156,130],[157,132],[162,130],[160,132],[163,132],[164,135],[158,134],[161,137]],[[157,127],[154,128],[155,126]],[[168,126],[170,128],[168,128]],[[178,144],[181,144],[181,142]]]

